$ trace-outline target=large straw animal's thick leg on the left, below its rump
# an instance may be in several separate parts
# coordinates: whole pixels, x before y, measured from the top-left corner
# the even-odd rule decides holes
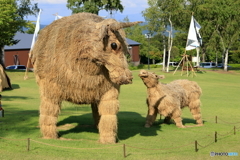
[[[39,123],[43,138],[58,138],[56,123],[59,112],[58,102],[44,96],[41,97]]]

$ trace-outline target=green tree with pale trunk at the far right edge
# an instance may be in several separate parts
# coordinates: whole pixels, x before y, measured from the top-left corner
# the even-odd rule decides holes
[[[213,38],[219,39],[215,42],[220,42],[225,71],[227,71],[229,51],[240,38],[239,7],[240,2],[236,0],[208,0],[197,7],[200,14],[199,17],[205,24],[207,23],[206,21],[208,21],[208,25],[210,25],[210,27],[206,29],[212,32],[212,34],[215,34],[215,36],[212,36],[212,34],[208,32],[209,35],[211,35],[208,42],[212,41]],[[208,12],[206,13],[206,11]],[[203,13],[204,15],[202,15]],[[218,46],[219,43],[212,43],[211,45]]]

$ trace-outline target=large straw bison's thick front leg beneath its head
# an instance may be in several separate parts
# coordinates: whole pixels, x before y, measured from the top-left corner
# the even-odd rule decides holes
[[[113,87],[102,96],[99,103],[99,114],[101,116],[98,124],[100,143],[116,143],[118,93],[118,89]]]

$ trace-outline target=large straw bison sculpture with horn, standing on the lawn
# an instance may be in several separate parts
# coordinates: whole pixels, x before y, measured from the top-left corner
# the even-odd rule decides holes
[[[140,22],[117,22],[79,13],[41,30],[30,53],[40,90],[40,129],[58,138],[62,101],[91,104],[100,143],[115,143],[119,89],[132,81],[123,28]]]

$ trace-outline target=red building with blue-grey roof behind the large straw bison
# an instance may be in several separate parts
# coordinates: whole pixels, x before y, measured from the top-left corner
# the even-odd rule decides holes
[[[16,40],[20,40],[16,45],[5,46],[5,66],[9,65],[27,65],[28,54],[32,44],[33,34],[17,33],[14,37]],[[139,45],[140,43],[130,39],[126,39],[129,44],[128,49],[132,58],[132,63],[138,65],[140,63],[139,57]],[[30,66],[32,68],[32,66]]]

